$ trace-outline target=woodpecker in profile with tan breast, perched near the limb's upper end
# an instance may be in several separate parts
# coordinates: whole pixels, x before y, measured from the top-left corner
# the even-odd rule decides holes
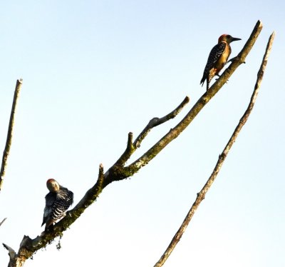
[[[227,63],[229,55],[232,52],[231,46],[229,46],[232,41],[239,41],[242,39],[235,38],[229,34],[223,34],[219,36],[218,44],[216,44],[212,50],[209,52],[209,57],[207,64],[204,69],[204,74],[200,84],[204,84],[204,81],[207,80],[207,91],[209,89],[209,82],[213,79],[215,75],[219,76],[219,71]]]

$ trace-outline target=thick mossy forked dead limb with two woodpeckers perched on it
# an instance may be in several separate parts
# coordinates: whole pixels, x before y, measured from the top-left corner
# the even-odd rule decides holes
[[[67,212],[66,216],[61,221],[56,223],[52,231],[43,232],[41,236],[37,236],[34,239],[31,239],[28,236],[24,236],[23,240],[21,241],[19,252],[16,253],[16,258],[30,258],[33,253],[38,251],[38,249],[47,246],[48,243],[51,243],[51,241],[53,241],[53,239],[57,236],[62,236],[63,231],[66,231],[66,229],[71,226],[71,224],[76,221],[79,216],[81,216],[86,208],[88,208],[88,206],[90,206],[90,204],[92,204],[98,198],[103,188],[108,186],[108,184],[113,183],[113,181],[120,181],[133,176],[140,170],[140,168],[142,168],[142,166],[145,166],[152,160],[152,158],[155,158],[155,156],[157,156],[157,154],[160,153],[160,151],[162,151],[162,149],[165,148],[168,143],[177,138],[177,136],[179,136],[180,133],[182,133],[182,131],[184,131],[186,127],[192,122],[195,116],[199,114],[199,111],[201,111],[201,109],[209,102],[209,100],[212,99],[215,94],[217,94],[217,91],[222,88],[222,86],[229,79],[229,76],[234,73],[237,67],[240,64],[244,63],[245,58],[249,54],[249,51],[252,49],[252,46],[254,46],[254,43],[257,40],[261,29],[261,21],[257,21],[257,24],[254,26],[252,34],[249,36],[249,39],[244,45],[242,51],[235,58],[235,60],[232,61],[232,64],[229,65],[229,67],[212,85],[212,87],[201,96],[201,98],[192,107],[185,118],[183,118],[177,124],[177,126],[175,126],[174,129],[170,129],[170,131],[165,136],[163,136],[160,141],[155,143],[155,145],[152,146],[152,148],[150,148],[142,156],[140,156],[140,158],[138,158],[133,163],[130,163],[130,165],[125,166],[125,163],[128,161],[133,152],[140,146],[140,143],[145,138],[145,136],[147,136],[147,133],[150,131],[150,129],[152,129],[154,126],[159,125],[160,123],[167,121],[168,119],[175,117],[185,106],[185,104],[187,104],[189,99],[185,98],[185,100],[182,101],[182,104],[180,104],[180,106],[175,109],[173,114],[170,113],[171,115],[169,117],[166,116],[166,119],[158,119],[158,122],[157,120],[151,120],[150,124],[148,124],[142,133],[140,133],[138,138],[135,139],[135,142],[133,142],[133,133],[129,133],[127,148],[123,152],[122,156],[120,156],[118,161],[116,161],[116,163],[111,166],[104,174],[103,166],[100,166],[98,180],[95,185],[86,192],[85,196],[83,196],[81,201],[79,201],[79,203],[71,211]],[[10,258],[10,262],[11,261],[14,261],[14,258]]]

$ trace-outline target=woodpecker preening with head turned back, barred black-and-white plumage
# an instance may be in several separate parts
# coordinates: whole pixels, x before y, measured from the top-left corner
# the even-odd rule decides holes
[[[73,203],[73,193],[61,186],[56,180],[48,179],[46,187],[49,193],[46,195],[46,207],[43,211],[43,224],[46,223],[45,231],[56,221],[66,216],[66,211]]]

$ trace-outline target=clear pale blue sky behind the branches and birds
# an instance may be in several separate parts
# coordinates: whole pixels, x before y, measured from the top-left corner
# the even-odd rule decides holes
[[[0,150],[16,79],[23,86],[0,193],[0,242],[18,251],[41,228],[46,180],[75,204],[154,116],[185,96],[175,120],[153,129],[135,160],[204,94],[199,81],[221,34],[244,46],[264,29],[195,121],[132,178],[111,183],[35,266],[153,266],[195,201],[254,89],[266,42],[273,50],[254,111],[165,266],[285,266],[284,1],[2,1]],[[130,162],[131,162],[130,161]],[[7,266],[0,247],[0,266]]]

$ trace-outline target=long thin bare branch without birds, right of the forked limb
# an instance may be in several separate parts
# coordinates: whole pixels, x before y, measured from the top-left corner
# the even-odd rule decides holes
[[[263,78],[264,70],[266,68],[267,60],[271,51],[271,46],[274,40],[274,32],[271,34],[268,44],[266,46],[266,51],[259,69],[259,72],[257,74],[257,82],[254,86],[254,92],[252,94],[252,98],[250,99],[249,106],[247,107],[247,110],[245,111],[244,115],[242,116],[242,119],[240,119],[239,124],[237,125],[236,129],[234,130],[234,133],[232,134],[232,137],[229,139],[229,142],[227,143],[227,146],[225,146],[224,151],[222,151],[222,154],[219,155],[219,159],[217,161],[216,166],[214,167],[214,171],[212,172],[211,176],[209,176],[209,179],[207,183],[205,183],[204,187],[202,188],[199,193],[197,193],[197,198],[195,202],[193,203],[192,207],[190,208],[190,211],[187,213],[187,216],[185,217],[182,225],[180,226],[179,230],[175,234],[175,236],[172,238],[172,241],[170,242],[170,245],[167,247],[165,253],[162,254],[161,258],[154,267],[161,267],[167,258],[170,256],[172,251],[174,250],[177,243],[180,241],[180,238],[182,237],[183,233],[185,232],[188,224],[190,223],[192,216],[194,215],[195,211],[197,210],[199,204],[204,199],[204,196],[206,195],[207,191],[209,190],[210,186],[212,186],[212,183],[214,182],[215,178],[217,177],[217,174],[219,173],[219,170],[222,168],[222,164],[224,163],[224,160],[227,158],[227,154],[229,153],[229,149],[232,148],[232,145],[237,139],[237,136],[239,132],[242,130],[242,127],[247,122],[247,119],[249,118],[249,114],[251,114],[252,109],[255,104],[255,100],[257,99],[257,94],[259,93],[259,87],[261,85],[261,81]]]

